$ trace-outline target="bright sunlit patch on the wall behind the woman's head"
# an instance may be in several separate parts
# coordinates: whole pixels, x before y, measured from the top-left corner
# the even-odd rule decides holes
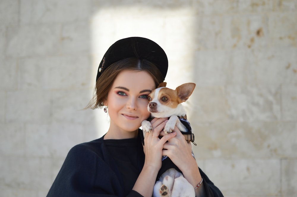
[[[156,9],[149,6],[104,7],[91,20],[91,50],[94,79],[106,50],[115,41],[140,36],[158,43],[169,61],[167,87],[193,82],[195,17],[190,9]],[[94,83],[95,85],[95,83]],[[108,131],[103,110],[94,110],[98,137]]]

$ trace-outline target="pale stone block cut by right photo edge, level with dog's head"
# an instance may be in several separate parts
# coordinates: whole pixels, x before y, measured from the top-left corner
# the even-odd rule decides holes
[[[297,120],[297,85],[282,86],[282,119]]]

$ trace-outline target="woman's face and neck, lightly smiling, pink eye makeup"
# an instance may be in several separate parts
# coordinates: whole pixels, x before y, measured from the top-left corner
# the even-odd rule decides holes
[[[136,137],[141,122],[149,117],[147,96],[155,88],[153,78],[146,71],[119,73],[105,103],[110,116],[108,133],[113,134],[113,139]]]

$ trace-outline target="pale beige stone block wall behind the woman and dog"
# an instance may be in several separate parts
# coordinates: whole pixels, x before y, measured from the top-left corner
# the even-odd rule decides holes
[[[102,136],[82,110],[114,41],[168,55],[198,165],[225,196],[297,196],[297,0],[1,0],[0,196],[46,196],[69,149]]]

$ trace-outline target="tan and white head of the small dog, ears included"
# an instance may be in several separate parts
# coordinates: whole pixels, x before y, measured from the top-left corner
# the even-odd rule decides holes
[[[194,83],[187,83],[173,90],[166,88],[166,82],[162,82],[148,96],[149,112],[156,118],[184,115],[185,112],[181,103],[188,100],[195,86]]]

